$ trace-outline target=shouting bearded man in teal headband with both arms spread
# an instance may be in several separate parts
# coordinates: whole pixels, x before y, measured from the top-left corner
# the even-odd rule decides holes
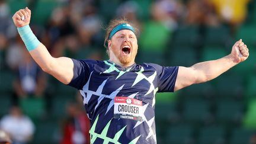
[[[31,31],[30,9],[20,9],[12,18],[41,69],[80,90],[91,121],[91,143],[156,143],[156,92],[174,92],[210,81],[249,56],[247,46],[239,40],[229,55],[188,68],[137,64],[136,28],[126,20],[113,20],[104,42],[109,60],[55,58]]]

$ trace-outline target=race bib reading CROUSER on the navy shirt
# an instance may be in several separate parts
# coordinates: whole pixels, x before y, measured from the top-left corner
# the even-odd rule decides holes
[[[114,98],[114,119],[142,121],[142,101],[135,98]]]

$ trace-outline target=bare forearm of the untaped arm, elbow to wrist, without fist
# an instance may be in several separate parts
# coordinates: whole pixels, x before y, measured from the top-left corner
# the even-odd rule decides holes
[[[196,63],[191,66],[197,72],[195,84],[210,81],[222,73],[228,71],[230,68],[238,64],[231,55],[222,57],[217,60],[210,60],[206,62]]]

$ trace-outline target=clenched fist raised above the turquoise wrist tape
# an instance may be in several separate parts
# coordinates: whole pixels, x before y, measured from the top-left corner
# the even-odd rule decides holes
[[[12,17],[16,27],[24,27],[30,23],[31,11],[27,7],[20,9]]]

